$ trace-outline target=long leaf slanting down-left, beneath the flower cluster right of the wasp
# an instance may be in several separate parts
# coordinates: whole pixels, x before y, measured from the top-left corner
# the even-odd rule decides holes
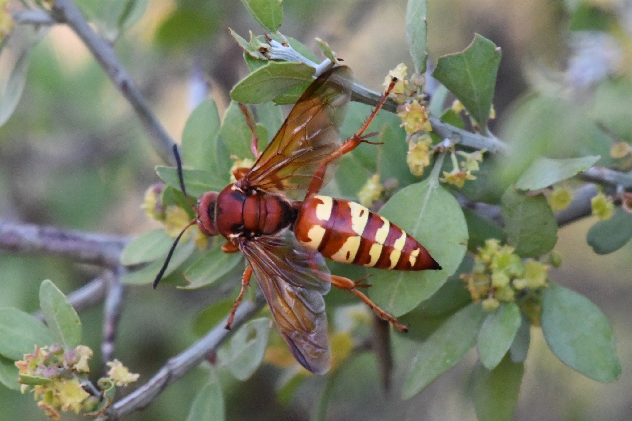
[[[476,344],[485,313],[480,303],[472,303],[451,316],[419,347],[402,389],[402,399],[410,399],[444,374]]]

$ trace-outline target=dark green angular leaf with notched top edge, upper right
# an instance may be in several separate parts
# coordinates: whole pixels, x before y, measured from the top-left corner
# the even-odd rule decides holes
[[[501,49],[477,33],[465,50],[440,57],[432,76],[454,93],[484,130],[500,63]]]

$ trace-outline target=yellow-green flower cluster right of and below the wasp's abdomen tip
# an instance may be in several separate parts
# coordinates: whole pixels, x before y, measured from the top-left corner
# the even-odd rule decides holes
[[[547,286],[549,266],[537,260],[522,261],[514,247],[489,239],[479,247],[471,273],[461,275],[473,301],[483,301],[483,309],[493,312],[500,302],[513,301],[521,290]]]

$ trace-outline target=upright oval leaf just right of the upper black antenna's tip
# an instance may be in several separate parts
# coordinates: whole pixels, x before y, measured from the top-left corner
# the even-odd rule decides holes
[[[220,126],[214,100],[205,100],[193,110],[182,132],[183,165],[219,174],[217,160],[221,157],[217,154],[217,138]]]

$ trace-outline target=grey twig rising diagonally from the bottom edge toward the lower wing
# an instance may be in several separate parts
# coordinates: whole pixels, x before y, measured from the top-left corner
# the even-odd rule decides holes
[[[250,317],[254,316],[265,304],[262,297],[256,302],[247,301],[240,305],[235,313],[233,328],[224,329],[226,319],[218,323],[204,338],[187,348],[184,352],[168,360],[162,369],[149,379],[143,386],[128,394],[125,398],[112,405],[105,417],[97,421],[118,420],[131,412],[145,408],[170,384],[184,376],[186,372],[196,367],[206,359],[207,355],[215,352],[228,338]]]

